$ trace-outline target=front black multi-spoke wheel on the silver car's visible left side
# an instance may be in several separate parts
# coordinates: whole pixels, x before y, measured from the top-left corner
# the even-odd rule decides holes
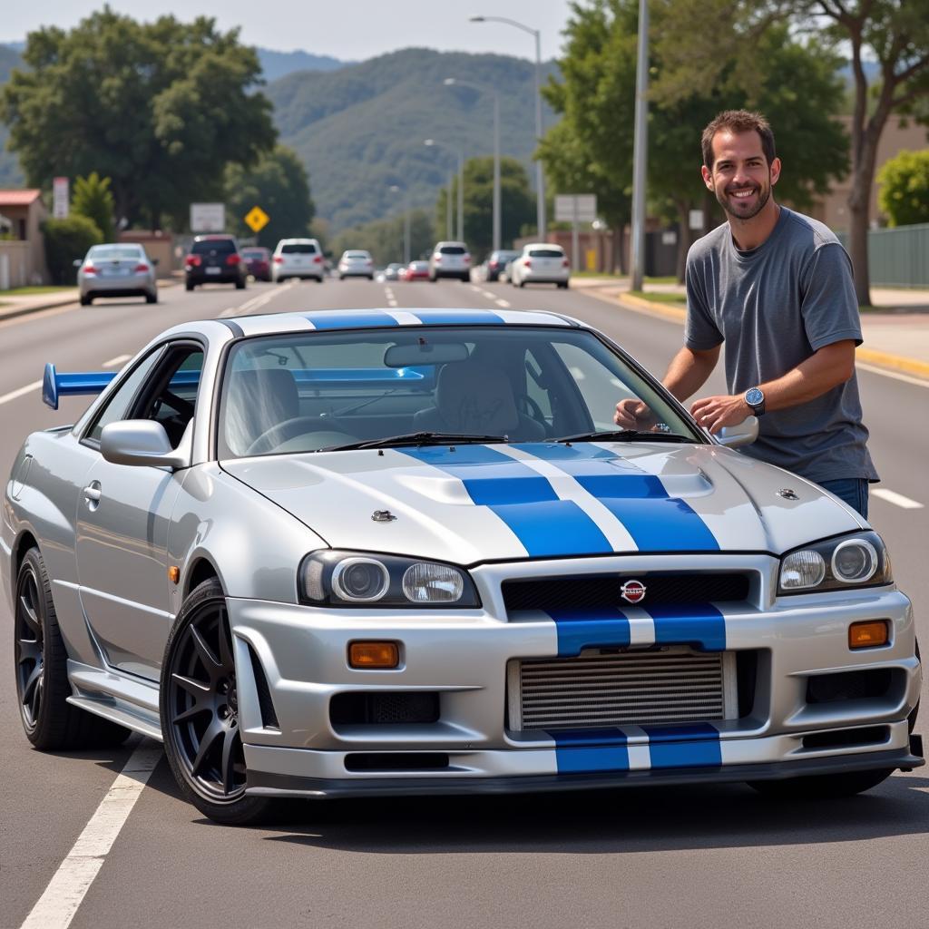
[[[245,794],[232,635],[216,578],[198,584],[184,600],[162,668],[164,754],[185,798],[223,825],[265,820],[272,802]]]

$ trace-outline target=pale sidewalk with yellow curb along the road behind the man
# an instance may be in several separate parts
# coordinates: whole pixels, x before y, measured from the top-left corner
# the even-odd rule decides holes
[[[582,293],[618,303],[626,309],[660,316],[683,324],[685,295],[681,284],[646,284],[644,295],[629,293],[629,279],[573,277],[571,287]],[[661,302],[649,300],[661,294]],[[665,302],[677,295],[679,302]],[[864,345],[857,360],[929,381],[929,290],[872,287],[874,308],[861,314]]]

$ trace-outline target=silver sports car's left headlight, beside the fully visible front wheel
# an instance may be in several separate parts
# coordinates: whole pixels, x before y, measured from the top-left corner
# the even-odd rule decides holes
[[[360,552],[311,552],[300,600],[314,607],[479,607],[470,575],[454,565]]]

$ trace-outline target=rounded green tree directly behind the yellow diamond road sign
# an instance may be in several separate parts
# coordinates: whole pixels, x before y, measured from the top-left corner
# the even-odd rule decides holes
[[[245,216],[260,206],[270,217],[258,232],[258,244],[273,248],[279,240],[309,235],[315,209],[309,195],[307,171],[294,150],[282,145],[266,152],[252,168],[230,164],[226,169],[226,207],[231,229],[254,236]]]

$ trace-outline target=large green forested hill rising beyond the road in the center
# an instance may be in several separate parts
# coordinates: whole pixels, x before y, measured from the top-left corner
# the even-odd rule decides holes
[[[554,67],[545,66],[543,80]],[[289,74],[265,92],[281,141],[307,166],[318,215],[337,231],[399,213],[407,195],[431,210],[459,149],[465,159],[492,153],[493,89],[501,154],[531,172],[534,70],[502,55],[407,48],[335,72]],[[445,86],[448,77],[484,89]],[[544,123],[554,120],[546,108]],[[441,147],[426,147],[426,138]]]

